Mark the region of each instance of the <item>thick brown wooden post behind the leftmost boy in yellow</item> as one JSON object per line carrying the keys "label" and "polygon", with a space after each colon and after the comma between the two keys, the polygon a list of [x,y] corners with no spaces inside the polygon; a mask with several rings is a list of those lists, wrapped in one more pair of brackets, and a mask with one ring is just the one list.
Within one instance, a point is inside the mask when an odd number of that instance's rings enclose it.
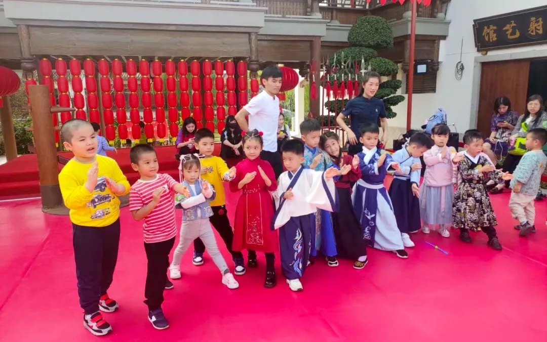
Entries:
{"label": "thick brown wooden post behind the leftmost boy in yellow", "polygon": [[51,120],[49,89],[46,85],[31,85],[28,86],[28,94],[31,99],[34,146],[38,157],[42,211],[46,211],[63,207],[63,198],[59,188],[59,167],[57,166],[57,150],[55,149],[54,127]]}

